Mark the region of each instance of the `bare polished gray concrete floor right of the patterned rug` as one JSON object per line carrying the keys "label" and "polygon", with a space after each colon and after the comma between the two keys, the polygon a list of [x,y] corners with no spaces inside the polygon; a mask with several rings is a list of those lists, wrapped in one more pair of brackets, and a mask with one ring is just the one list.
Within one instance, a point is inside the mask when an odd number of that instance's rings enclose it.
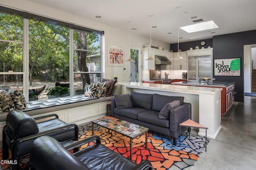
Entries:
{"label": "bare polished gray concrete floor right of the patterned rug", "polygon": [[244,97],[222,117],[222,130],[211,139],[192,170],[256,169],[256,97]]}

